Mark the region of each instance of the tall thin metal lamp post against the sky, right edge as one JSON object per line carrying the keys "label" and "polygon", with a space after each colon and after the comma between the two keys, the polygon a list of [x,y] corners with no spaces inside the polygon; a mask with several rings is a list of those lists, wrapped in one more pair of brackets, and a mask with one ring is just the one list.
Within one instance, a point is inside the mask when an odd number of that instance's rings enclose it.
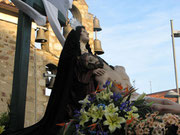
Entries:
{"label": "tall thin metal lamp post against the sky, right edge", "polygon": [[175,55],[175,46],[174,46],[174,37],[180,37],[180,31],[174,31],[173,30],[173,20],[170,20],[170,23],[171,23],[171,37],[172,37],[172,47],[173,47],[173,58],[174,58],[174,70],[175,70],[175,79],[176,79],[176,89],[177,89],[177,93],[178,93],[178,104],[180,104],[178,78],[177,78],[177,68],[176,68],[176,55]]}

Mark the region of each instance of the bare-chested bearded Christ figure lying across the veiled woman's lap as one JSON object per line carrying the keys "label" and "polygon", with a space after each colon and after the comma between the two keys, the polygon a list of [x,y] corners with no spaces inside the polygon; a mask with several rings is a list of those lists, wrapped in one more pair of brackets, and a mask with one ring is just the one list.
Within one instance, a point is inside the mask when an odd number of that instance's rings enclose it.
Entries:
{"label": "bare-chested bearded Christ figure lying across the veiled woman's lap", "polygon": [[[87,68],[89,70],[94,70],[94,72],[99,69],[103,69],[103,73],[95,74],[95,79],[98,82],[99,88],[103,89],[103,85],[107,80],[112,80],[117,84],[120,84],[123,88],[132,87],[130,83],[130,79],[125,71],[125,68],[122,66],[112,67],[108,65],[103,59],[98,56],[85,53],[80,57],[80,61],[82,62],[83,68]],[[112,88],[113,92],[120,92],[118,88]],[[131,100],[135,100],[138,98],[140,94],[134,92],[132,94]],[[180,114],[180,105],[168,100],[168,99],[160,99],[153,97],[145,97],[146,102],[154,102],[152,105],[152,109],[154,111],[159,111],[160,113],[175,113]]]}

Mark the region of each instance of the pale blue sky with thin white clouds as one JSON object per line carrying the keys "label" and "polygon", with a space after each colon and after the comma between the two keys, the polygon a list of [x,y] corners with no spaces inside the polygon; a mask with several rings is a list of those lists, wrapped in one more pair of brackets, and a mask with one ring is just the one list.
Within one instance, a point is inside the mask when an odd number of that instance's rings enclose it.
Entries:
{"label": "pale blue sky with thin white clouds", "polygon": [[[111,65],[126,69],[139,93],[176,88],[171,26],[180,30],[179,0],[86,0],[102,31],[97,33]],[[175,38],[180,85],[180,38]]]}

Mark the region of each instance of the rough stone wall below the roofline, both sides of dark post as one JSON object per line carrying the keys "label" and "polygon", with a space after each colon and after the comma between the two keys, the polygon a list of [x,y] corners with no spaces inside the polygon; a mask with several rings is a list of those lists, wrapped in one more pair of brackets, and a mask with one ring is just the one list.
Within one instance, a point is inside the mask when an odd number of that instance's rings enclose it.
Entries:
{"label": "rough stone wall below the roofline, both sides of dark post", "polygon": [[[8,26],[8,27],[7,27]],[[0,112],[7,111],[10,100],[14,70],[14,55],[17,25],[0,21]],[[40,49],[34,48],[35,31],[31,32],[31,48],[29,57],[28,87],[26,99],[25,125],[29,126],[43,116],[49,97],[45,96],[45,66],[49,63],[57,65],[58,58]],[[23,80],[19,80],[23,81]],[[36,85],[35,85],[36,84]],[[35,92],[37,97],[35,101]],[[36,104],[36,105],[35,105]],[[36,109],[35,109],[36,107]],[[37,110],[35,112],[35,110]]]}

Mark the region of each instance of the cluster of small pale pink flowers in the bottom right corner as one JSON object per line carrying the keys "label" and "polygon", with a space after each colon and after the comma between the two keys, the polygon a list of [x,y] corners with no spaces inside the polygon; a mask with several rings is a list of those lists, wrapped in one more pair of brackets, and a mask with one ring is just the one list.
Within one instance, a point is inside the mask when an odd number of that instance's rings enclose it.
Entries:
{"label": "cluster of small pale pink flowers in the bottom right corner", "polygon": [[159,112],[146,114],[145,119],[134,119],[128,125],[128,135],[180,135],[180,117]]}

